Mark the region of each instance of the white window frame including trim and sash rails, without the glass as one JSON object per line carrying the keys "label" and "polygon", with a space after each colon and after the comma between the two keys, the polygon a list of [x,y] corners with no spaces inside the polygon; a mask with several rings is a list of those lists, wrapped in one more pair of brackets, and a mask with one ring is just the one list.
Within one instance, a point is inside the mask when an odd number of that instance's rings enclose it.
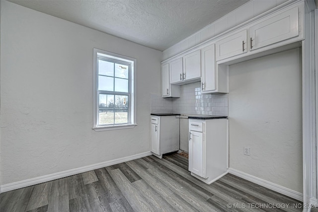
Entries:
{"label": "white window frame including trim and sash rails, without the glass", "polygon": [[[136,59],[115,53],[93,49],[93,127],[95,131],[129,129],[137,126],[136,123]],[[130,66],[128,71],[128,93],[116,91],[99,91],[98,90],[98,59],[105,59],[122,65]],[[113,76],[114,78],[115,75]],[[115,86],[115,85],[114,85]],[[108,124],[97,125],[99,118],[99,94],[107,95],[127,95],[128,94],[128,123],[126,124]],[[115,99],[114,99],[115,100]]]}

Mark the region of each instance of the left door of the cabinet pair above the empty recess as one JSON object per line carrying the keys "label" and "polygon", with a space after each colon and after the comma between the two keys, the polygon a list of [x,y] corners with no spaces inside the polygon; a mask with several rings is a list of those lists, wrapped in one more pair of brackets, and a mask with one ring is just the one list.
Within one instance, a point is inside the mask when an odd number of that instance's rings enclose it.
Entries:
{"label": "left door of the cabinet pair above the empty recess", "polygon": [[216,43],[217,61],[247,52],[247,30],[230,35]]}

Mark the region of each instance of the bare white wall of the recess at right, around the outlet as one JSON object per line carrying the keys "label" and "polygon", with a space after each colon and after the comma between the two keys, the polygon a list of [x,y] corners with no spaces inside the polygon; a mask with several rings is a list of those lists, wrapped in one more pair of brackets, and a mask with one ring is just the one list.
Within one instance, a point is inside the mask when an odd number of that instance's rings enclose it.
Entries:
{"label": "bare white wall of the recess at right, around the outlet", "polygon": [[230,168],[302,193],[300,57],[293,49],[230,66],[229,136]]}

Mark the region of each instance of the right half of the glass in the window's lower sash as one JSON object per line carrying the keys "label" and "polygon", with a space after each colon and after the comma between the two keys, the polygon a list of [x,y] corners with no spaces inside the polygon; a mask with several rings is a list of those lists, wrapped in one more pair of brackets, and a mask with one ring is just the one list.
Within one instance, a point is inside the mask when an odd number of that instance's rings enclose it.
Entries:
{"label": "right half of the glass in the window's lower sash", "polygon": [[128,123],[128,96],[115,96],[115,124]]}

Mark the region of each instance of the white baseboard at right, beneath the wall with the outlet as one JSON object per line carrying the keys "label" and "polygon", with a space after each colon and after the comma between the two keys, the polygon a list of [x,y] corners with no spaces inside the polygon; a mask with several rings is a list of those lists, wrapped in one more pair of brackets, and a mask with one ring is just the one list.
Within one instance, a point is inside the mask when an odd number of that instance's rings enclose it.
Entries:
{"label": "white baseboard at right, beneath the wall with the outlet", "polygon": [[257,185],[264,186],[265,188],[268,188],[270,190],[276,191],[280,194],[286,195],[286,196],[291,197],[295,200],[299,200],[299,201],[303,202],[303,194],[300,192],[293,191],[291,189],[285,188],[285,187],[277,185],[275,183],[268,182],[268,181],[260,179],[258,177],[254,177],[252,175],[246,174],[244,172],[238,171],[238,170],[233,169],[233,168],[229,168],[228,172],[230,174],[233,174],[235,176],[238,176],[238,177],[243,178],[245,180],[248,180],[250,182],[256,183]]}

